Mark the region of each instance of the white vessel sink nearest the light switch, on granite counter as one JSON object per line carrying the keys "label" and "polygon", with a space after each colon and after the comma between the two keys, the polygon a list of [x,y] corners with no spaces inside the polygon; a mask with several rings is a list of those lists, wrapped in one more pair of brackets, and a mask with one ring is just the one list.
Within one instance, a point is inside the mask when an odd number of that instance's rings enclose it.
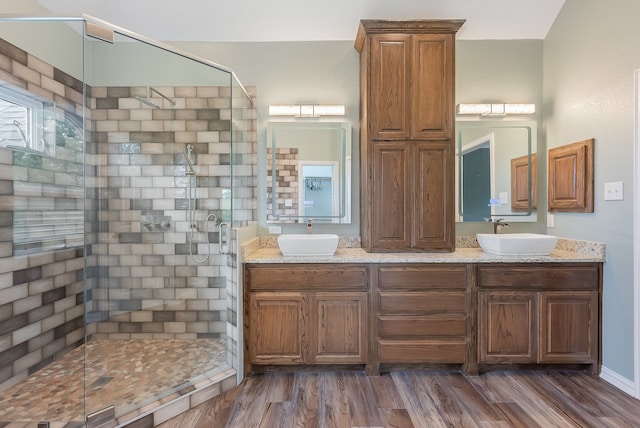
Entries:
{"label": "white vessel sink nearest the light switch, on granite counter", "polygon": [[548,256],[558,243],[557,236],[538,233],[478,233],[478,244],[499,256]]}

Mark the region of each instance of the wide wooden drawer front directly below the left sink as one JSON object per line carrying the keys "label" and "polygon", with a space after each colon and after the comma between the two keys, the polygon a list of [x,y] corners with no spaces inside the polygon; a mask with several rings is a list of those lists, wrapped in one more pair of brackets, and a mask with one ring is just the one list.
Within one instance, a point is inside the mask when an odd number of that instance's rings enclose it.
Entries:
{"label": "wide wooden drawer front directly below the left sink", "polygon": [[366,291],[369,288],[369,268],[366,265],[249,265],[245,275],[251,291]]}

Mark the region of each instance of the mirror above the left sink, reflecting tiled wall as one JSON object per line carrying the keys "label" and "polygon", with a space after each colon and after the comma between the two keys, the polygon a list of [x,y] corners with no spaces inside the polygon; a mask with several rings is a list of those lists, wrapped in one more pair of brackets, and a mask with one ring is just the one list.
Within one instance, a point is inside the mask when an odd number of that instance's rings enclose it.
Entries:
{"label": "mirror above the left sink, reflecting tiled wall", "polygon": [[351,124],[267,124],[267,222],[351,223]]}

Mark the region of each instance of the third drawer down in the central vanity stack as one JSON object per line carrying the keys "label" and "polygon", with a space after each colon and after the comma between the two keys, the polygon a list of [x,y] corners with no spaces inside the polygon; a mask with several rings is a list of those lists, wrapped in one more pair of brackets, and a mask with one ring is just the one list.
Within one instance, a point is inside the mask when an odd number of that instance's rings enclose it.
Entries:
{"label": "third drawer down in the central vanity stack", "polygon": [[381,315],[378,318],[380,338],[464,337],[466,334],[464,314]]}

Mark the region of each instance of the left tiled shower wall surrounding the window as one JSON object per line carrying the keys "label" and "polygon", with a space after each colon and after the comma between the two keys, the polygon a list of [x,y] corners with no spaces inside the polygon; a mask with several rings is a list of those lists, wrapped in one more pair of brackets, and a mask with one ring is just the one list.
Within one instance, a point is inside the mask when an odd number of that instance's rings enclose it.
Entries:
{"label": "left tiled shower wall surrounding the window", "polygon": [[[82,82],[2,39],[0,80],[81,123]],[[83,252],[73,246],[81,243],[14,255],[14,220],[26,207],[83,207],[82,147],[56,145],[54,157],[0,148],[0,391],[83,343]]]}

